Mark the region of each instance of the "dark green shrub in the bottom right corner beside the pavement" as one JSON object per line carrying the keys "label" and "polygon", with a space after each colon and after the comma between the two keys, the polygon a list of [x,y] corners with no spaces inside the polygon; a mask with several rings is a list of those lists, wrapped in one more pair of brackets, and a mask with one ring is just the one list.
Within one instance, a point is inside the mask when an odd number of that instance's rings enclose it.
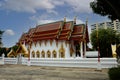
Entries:
{"label": "dark green shrub in the bottom right corner beside the pavement", "polygon": [[120,80],[120,67],[110,68],[108,75],[110,80]]}

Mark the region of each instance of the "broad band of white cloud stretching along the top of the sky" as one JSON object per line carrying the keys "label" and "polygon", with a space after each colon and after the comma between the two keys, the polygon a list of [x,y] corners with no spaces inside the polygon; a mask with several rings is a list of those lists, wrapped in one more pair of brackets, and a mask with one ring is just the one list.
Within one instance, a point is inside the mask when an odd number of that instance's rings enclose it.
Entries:
{"label": "broad band of white cloud stretching along the top of the sky", "polygon": [[93,0],[4,0],[1,7],[18,12],[36,13],[37,10],[46,10],[57,14],[59,6],[69,5],[73,11],[90,13],[89,3]]}

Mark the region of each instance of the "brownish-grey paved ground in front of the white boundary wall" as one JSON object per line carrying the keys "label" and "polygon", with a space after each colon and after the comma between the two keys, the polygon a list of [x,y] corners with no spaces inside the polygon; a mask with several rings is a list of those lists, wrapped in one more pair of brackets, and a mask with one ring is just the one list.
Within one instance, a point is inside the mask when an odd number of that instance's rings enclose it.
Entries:
{"label": "brownish-grey paved ground in front of the white boundary wall", "polygon": [[0,65],[0,80],[109,80],[108,69]]}

